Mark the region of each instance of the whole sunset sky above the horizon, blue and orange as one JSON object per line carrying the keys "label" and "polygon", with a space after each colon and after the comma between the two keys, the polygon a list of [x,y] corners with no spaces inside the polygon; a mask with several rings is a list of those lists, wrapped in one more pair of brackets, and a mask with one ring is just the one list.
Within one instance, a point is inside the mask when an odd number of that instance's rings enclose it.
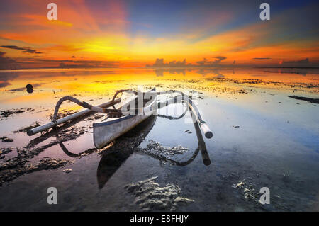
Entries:
{"label": "whole sunset sky above the horizon, blue and orange", "polygon": [[0,68],[318,67],[318,1],[262,2],[4,0]]}

